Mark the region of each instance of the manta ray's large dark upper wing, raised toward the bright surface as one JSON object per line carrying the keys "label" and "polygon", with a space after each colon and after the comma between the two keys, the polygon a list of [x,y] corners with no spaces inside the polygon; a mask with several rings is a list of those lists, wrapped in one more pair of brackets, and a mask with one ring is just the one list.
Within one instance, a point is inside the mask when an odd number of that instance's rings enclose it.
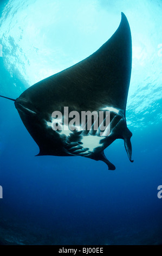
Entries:
{"label": "manta ray's large dark upper wing, raised toward the bright surface", "polygon": [[119,28],[98,51],[34,84],[21,97],[50,113],[72,106],[76,111],[113,107],[125,114],[131,65],[131,32],[122,13]]}

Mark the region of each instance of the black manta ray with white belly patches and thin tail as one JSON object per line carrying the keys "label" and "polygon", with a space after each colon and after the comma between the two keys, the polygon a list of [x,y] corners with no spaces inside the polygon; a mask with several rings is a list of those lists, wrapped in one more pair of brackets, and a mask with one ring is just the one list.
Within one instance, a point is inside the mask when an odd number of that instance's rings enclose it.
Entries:
{"label": "black manta ray with white belly patches and thin tail", "polygon": [[[132,157],[132,132],[126,124],[126,102],[131,79],[132,39],[124,13],[116,32],[99,50],[55,75],[25,90],[16,100],[20,114],[40,152],[37,156],[83,156],[105,162],[108,169],[115,166],[109,162],[104,150],[115,139],[124,139],[129,160]],[[4,96],[2,96],[4,97]],[[110,133],[100,136],[98,130],[51,129],[54,111],[63,113],[64,106],[70,111],[109,111]]]}

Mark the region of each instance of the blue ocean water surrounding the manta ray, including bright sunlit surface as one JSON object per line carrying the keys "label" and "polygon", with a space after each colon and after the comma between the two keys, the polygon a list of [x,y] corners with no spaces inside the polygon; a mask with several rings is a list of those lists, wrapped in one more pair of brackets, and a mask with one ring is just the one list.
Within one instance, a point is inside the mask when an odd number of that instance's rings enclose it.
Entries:
{"label": "blue ocean water surrounding the manta ray, including bright sunlit surface", "polygon": [[126,117],[134,162],[120,140],[105,150],[114,171],[84,157],[35,157],[14,103],[0,99],[0,244],[162,243],[160,0],[1,1],[0,94],[16,98],[89,56],[115,32],[121,11],[132,33]]}

